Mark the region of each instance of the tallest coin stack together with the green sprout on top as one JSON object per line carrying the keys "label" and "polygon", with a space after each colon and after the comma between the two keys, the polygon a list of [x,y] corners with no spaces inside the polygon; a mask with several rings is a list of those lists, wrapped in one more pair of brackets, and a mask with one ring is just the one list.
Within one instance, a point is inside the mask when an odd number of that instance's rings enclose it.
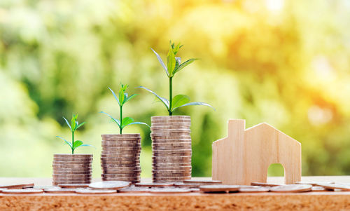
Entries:
{"label": "tallest coin stack together with the green sprout on top", "polygon": [[[169,79],[169,100],[160,97],[152,90],[144,88],[155,95],[165,105],[169,116],[151,117],[152,138],[152,180],[153,182],[179,182],[190,179],[192,175],[192,139],[190,135],[190,116],[173,116],[174,111],[190,105],[204,105],[211,107],[205,102],[190,102],[187,95],[173,97],[173,78],[183,68],[197,59],[189,59],[181,63],[181,57],[177,57],[181,44],[175,45],[170,41],[167,54],[167,65],[158,53],[153,53],[165,70]],[[213,108],[213,107],[211,107]],[[214,109],[214,108],[213,108]]]}

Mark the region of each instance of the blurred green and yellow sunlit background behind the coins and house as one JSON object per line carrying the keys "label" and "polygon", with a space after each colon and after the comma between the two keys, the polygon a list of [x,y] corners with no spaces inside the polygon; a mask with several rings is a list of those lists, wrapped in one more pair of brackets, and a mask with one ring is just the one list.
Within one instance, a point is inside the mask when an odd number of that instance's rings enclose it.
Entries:
{"label": "blurred green and yellow sunlit background behind the coins and house", "polygon": [[[146,86],[167,97],[169,40],[180,56],[201,60],[174,78],[174,94],[212,104],[186,107],[192,117],[193,176],[211,176],[211,143],[229,118],[267,122],[302,143],[302,175],[350,174],[350,1],[347,0],[1,0],[0,176],[50,177],[52,154],[69,153],[62,116],[87,121],[78,139],[97,149],[118,127],[108,86],[140,95],[125,116],[151,123],[167,115]],[[151,177],[151,138],[140,132],[142,176]],[[282,172],[281,172],[282,171]],[[274,165],[269,175],[283,175]]]}

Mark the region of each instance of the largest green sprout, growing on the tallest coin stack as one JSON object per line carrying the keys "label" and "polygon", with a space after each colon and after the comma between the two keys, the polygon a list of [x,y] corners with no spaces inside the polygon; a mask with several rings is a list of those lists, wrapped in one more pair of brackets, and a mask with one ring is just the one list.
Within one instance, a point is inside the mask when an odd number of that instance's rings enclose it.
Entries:
{"label": "largest green sprout, growing on the tallest coin stack", "polygon": [[157,56],[158,61],[162,65],[163,69],[165,69],[165,73],[167,73],[167,76],[169,78],[169,100],[167,100],[167,98],[165,97],[160,97],[155,92],[153,92],[152,90],[149,90],[148,88],[145,88],[144,86],[139,86],[139,88],[144,88],[148,92],[155,95],[155,97],[157,97],[165,105],[165,107],[167,107],[167,110],[169,111],[169,116],[172,116],[173,112],[176,109],[179,109],[180,107],[190,106],[190,105],[204,105],[204,106],[213,108],[210,104],[207,104],[205,102],[190,102],[190,97],[188,97],[187,95],[176,95],[175,97],[172,97],[173,96],[172,79],[175,76],[175,74],[178,73],[184,67],[186,67],[188,64],[191,64],[192,62],[197,60],[197,59],[189,59],[186,62],[183,62],[181,64],[181,57],[176,57],[176,53],[179,52],[179,49],[181,47],[182,45],[180,45],[180,43],[175,46],[175,44],[172,43],[172,41],[170,41],[169,52],[167,55],[167,66],[165,66],[160,55],[158,55],[158,53],[151,48],[153,50],[153,53],[155,53],[155,55]]}

